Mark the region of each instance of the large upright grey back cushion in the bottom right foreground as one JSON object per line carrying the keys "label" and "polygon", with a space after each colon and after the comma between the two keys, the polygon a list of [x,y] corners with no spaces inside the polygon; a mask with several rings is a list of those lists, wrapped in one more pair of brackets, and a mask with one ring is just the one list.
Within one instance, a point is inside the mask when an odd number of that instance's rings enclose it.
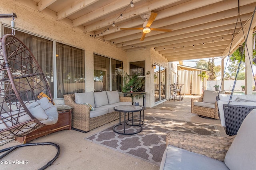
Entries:
{"label": "large upright grey back cushion in the bottom right foreground", "polygon": [[225,164],[232,170],[252,170],[256,167],[256,109],[244,119],[225,156]]}

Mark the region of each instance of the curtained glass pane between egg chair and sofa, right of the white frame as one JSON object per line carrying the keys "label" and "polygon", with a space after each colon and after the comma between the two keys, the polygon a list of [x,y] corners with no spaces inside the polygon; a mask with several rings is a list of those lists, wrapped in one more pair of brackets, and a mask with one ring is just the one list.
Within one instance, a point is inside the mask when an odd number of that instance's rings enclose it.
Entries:
{"label": "curtained glass pane between egg chair and sofa, right of the white frame", "polygon": [[85,92],[84,50],[56,42],[58,98]]}

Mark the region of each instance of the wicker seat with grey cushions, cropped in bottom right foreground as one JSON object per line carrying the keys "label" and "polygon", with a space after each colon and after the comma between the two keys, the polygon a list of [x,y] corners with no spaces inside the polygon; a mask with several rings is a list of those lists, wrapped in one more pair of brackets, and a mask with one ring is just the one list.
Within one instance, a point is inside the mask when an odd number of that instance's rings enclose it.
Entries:
{"label": "wicker seat with grey cushions, cropped in bottom right foreground", "polygon": [[256,109],[237,135],[213,137],[170,132],[160,170],[252,170],[256,167]]}

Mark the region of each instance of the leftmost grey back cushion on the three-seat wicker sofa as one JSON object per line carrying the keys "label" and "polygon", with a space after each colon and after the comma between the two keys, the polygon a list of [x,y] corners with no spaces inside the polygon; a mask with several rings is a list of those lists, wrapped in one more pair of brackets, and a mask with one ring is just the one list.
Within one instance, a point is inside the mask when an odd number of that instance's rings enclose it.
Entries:
{"label": "leftmost grey back cushion on the three-seat wicker sofa", "polygon": [[95,107],[94,104],[94,92],[76,93],[75,92],[75,102],[76,104],[88,103]]}

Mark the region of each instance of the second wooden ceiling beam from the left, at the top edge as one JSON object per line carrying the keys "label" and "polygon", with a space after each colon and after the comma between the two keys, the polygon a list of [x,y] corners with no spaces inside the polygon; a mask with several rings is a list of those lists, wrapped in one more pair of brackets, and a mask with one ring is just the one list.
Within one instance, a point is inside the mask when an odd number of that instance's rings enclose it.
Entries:
{"label": "second wooden ceiling beam from the left, at the top edge", "polygon": [[78,12],[79,10],[82,10],[83,8],[86,8],[89,5],[94,4],[95,2],[98,2],[98,1],[99,0],[82,0],[80,2],[70,4],[66,8],[57,12],[57,19],[62,20],[63,18],[66,18],[74,14],[75,12]]}

